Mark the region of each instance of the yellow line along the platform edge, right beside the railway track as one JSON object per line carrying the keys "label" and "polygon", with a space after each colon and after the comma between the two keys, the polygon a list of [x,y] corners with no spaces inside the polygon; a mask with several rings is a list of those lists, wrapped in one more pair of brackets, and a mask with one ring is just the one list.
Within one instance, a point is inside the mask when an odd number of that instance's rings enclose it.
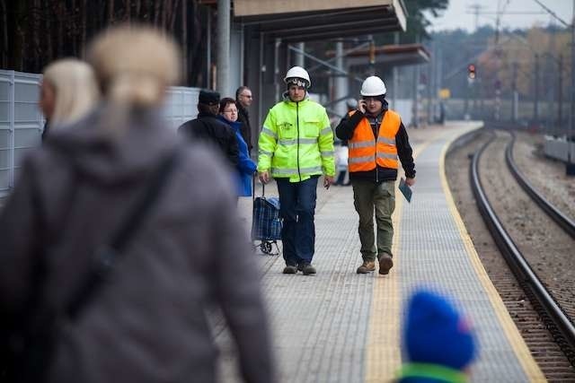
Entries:
{"label": "yellow line along the platform edge, right beside the railway track", "polygon": [[509,311],[505,307],[503,300],[501,300],[500,294],[495,289],[495,286],[493,286],[493,283],[491,283],[491,279],[489,278],[489,275],[485,271],[485,268],[482,265],[482,261],[481,259],[479,259],[477,251],[473,246],[473,241],[469,233],[467,232],[467,229],[465,229],[464,222],[461,218],[461,215],[459,215],[459,211],[457,210],[453,195],[451,194],[451,190],[449,189],[449,185],[447,184],[447,176],[445,171],[445,158],[447,148],[455,140],[456,137],[452,138],[445,144],[439,160],[440,161],[439,174],[441,177],[441,185],[447,198],[447,206],[449,208],[449,211],[451,212],[451,215],[453,216],[454,221],[456,222],[457,229],[459,230],[459,235],[461,239],[463,239],[464,241],[464,248],[469,256],[469,259],[471,260],[475,274],[477,274],[479,281],[482,283],[483,289],[485,290],[487,296],[489,297],[489,300],[491,301],[491,306],[493,307],[495,314],[497,315],[497,318],[499,319],[499,322],[503,327],[503,331],[505,332],[505,335],[508,338],[509,344],[511,344],[511,347],[513,348],[515,354],[517,355],[517,359],[519,363],[521,363],[521,366],[523,367],[523,370],[525,371],[527,378],[531,379],[531,381],[533,382],[546,381],[543,372],[539,369],[539,366],[535,362],[535,359],[529,352],[529,349],[527,348],[527,345],[523,340],[523,337],[519,334],[517,326],[515,326],[515,323],[513,323],[513,319],[511,319],[511,317],[509,316]]}

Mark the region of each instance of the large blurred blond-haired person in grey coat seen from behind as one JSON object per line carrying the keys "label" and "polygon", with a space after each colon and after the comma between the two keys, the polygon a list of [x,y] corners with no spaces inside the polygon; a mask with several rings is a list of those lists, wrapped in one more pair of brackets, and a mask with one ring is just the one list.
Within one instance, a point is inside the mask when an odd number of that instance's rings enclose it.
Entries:
{"label": "large blurred blond-haired person in grey coat seen from behind", "polygon": [[203,147],[180,147],[161,118],[180,73],[175,45],[155,30],[111,29],[88,61],[104,102],[23,162],[0,214],[0,335],[25,356],[13,381],[214,382],[206,311],[217,307],[243,379],[273,382],[230,177]]}

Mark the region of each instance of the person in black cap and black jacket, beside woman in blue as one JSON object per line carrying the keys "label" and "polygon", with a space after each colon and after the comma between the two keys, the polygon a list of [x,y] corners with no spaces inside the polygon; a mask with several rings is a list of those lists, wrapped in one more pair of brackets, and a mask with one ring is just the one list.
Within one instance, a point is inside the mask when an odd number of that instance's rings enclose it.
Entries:
{"label": "person in black cap and black jacket, beside woman in blue", "polygon": [[198,111],[197,118],[178,127],[178,134],[188,137],[191,141],[200,141],[219,148],[220,154],[227,159],[230,168],[235,170],[239,161],[237,140],[234,130],[217,118],[219,93],[205,89],[199,91]]}

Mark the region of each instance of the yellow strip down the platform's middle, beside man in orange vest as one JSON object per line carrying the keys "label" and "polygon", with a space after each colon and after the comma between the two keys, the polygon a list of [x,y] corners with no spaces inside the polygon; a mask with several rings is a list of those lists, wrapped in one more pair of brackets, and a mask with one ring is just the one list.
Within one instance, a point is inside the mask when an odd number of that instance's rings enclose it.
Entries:
{"label": "yellow strip down the platform's middle, beside man in orange vest", "polygon": [[[414,159],[431,142],[418,145],[414,149]],[[367,327],[367,357],[366,382],[389,382],[402,364],[401,353],[401,307],[402,294],[399,291],[399,281],[396,267],[401,267],[401,251],[399,248],[400,222],[403,211],[403,195],[395,191],[395,210],[392,216],[394,222],[394,268],[385,275],[376,276],[374,292],[371,301],[369,326]],[[377,273],[377,272],[376,272]]]}

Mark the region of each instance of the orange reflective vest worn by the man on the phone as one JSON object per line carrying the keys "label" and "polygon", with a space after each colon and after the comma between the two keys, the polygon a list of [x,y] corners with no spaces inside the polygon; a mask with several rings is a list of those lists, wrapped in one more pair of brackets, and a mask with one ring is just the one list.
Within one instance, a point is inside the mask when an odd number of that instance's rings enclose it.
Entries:
{"label": "orange reflective vest worn by the man on the phone", "polygon": [[[350,115],[354,112],[350,112]],[[395,135],[402,119],[393,110],[387,110],[379,126],[377,139],[367,118],[362,118],[348,142],[349,171],[369,171],[380,167],[397,169]]]}

